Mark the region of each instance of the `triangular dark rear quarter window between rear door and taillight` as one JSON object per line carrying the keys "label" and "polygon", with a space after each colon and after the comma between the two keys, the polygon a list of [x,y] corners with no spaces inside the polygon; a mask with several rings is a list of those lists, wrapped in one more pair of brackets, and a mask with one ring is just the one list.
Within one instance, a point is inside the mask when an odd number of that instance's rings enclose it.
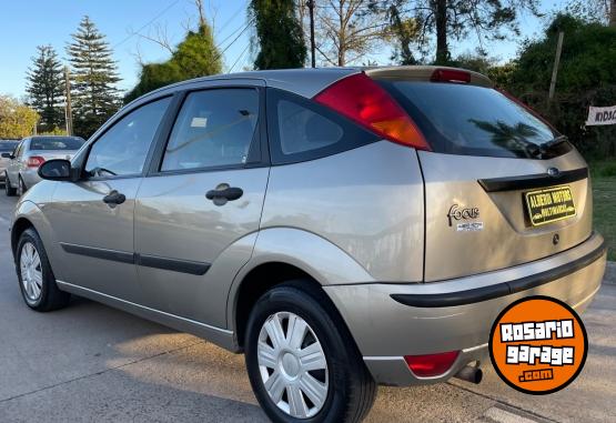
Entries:
{"label": "triangular dark rear quarter window between rear door and taillight", "polygon": [[327,108],[282,90],[267,90],[267,112],[273,164],[314,160],[378,140]]}

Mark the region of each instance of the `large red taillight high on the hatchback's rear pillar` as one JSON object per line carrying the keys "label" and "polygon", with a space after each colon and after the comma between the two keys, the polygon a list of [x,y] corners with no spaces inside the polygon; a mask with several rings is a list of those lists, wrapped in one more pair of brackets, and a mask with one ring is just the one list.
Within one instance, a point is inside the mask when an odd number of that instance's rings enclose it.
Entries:
{"label": "large red taillight high on the hatchback's rear pillar", "polygon": [[390,141],[430,150],[408,114],[365,73],[357,73],[334,83],[319,93],[314,100]]}

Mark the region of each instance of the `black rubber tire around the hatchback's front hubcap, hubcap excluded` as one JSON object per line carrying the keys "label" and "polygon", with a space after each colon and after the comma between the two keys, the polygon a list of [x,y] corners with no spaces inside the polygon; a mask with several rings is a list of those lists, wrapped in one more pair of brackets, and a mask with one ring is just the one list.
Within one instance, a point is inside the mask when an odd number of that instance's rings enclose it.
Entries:
{"label": "black rubber tire around the hatchback's front hubcap, hubcap excluded", "polygon": [[[30,299],[29,294],[26,292],[21,275],[22,250],[27,245],[33,245],[40,258],[39,268],[42,273],[42,283],[40,286],[40,295],[38,295],[34,300]],[[16,270],[21,296],[30,309],[39,312],[48,312],[62,309],[69,304],[71,295],[58,289],[43,243],[33,228],[29,228],[23,231],[19,238],[16,251]]]}

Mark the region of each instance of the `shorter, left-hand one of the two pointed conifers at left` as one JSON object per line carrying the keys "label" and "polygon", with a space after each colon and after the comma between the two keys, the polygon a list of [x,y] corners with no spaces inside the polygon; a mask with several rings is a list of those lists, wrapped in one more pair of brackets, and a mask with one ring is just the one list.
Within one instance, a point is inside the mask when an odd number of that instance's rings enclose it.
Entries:
{"label": "shorter, left-hand one of the two pointed conifers at left", "polygon": [[38,56],[28,69],[26,91],[30,105],[41,117],[41,132],[53,131],[64,122],[62,64],[51,46],[39,46],[37,50]]}

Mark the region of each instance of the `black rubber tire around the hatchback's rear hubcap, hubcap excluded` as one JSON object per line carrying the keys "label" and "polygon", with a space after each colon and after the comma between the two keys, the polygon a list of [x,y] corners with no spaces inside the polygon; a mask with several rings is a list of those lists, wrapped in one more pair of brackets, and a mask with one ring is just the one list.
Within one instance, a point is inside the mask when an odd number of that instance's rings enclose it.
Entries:
{"label": "black rubber tire around the hatchback's rear hubcap, hubcap excluded", "polygon": [[[261,328],[271,315],[279,312],[302,318],[314,331],[326,357],[330,381],[326,400],[322,409],[309,419],[296,419],[279,409],[270,399],[261,376],[256,348]],[[330,299],[312,288],[310,282],[287,282],[263,294],[251,312],[244,345],[252,389],[273,422],[361,422],[374,403],[376,383],[344,321]]]}

